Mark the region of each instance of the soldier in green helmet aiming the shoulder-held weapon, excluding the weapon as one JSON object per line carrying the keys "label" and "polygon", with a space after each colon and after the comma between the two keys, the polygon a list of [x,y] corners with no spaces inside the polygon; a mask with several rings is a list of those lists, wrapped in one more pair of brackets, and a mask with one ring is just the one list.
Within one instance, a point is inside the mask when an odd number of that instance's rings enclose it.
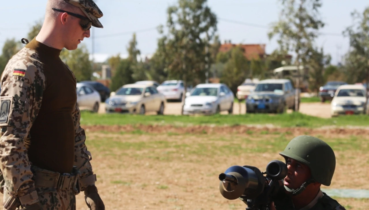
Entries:
{"label": "soldier in green helmet aiming the shoulder-held weapon, excluding the weapon", "polygon": [[345,210],[320,190],[331,185],[336,159],[332,148],[312,136],[292,139],[282,155],[288,173],[283,180],[285,192],[272,203],[272,210]]}

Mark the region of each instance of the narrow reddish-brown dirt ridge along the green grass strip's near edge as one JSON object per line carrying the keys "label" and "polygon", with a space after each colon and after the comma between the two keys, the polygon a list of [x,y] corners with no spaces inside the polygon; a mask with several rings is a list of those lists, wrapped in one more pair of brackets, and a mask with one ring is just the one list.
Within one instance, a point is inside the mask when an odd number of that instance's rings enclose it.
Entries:
{"label": "narrow reddish-brown dirt ridge along the green grass strip's near edge", "polygon": [[323,136],[363,136],[369,135],[368,129],[349,129],[349,128],[330,128],[330,129],[312,129],[306,127],[292,128],[273,128],[256,126],[172,126],[172,125],[94,125],[83,126],[87,132],[106,131],[106,132],[143,132],[143,133],[176,133],[176,134],[243,134],[243,133],[262,133],[279,134],[286,133],[291,135],[314,134]]}

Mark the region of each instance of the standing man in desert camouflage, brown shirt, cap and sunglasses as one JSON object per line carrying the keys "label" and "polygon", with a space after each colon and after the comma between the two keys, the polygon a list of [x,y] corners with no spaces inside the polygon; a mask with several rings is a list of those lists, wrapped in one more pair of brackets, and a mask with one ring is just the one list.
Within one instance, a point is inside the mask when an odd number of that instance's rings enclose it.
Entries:
{"label": "standing man in desert camouflage, brown shirt, cap and sunglasses", "polygon": [[[4,209],[74,210],[84,191],[104,210],[76,105],[76,78],[59,54],[103,28],[92,0],[48,0],[39,34],[1,75],[0,169]],[[0,176],[1,178],[1,176]]]}

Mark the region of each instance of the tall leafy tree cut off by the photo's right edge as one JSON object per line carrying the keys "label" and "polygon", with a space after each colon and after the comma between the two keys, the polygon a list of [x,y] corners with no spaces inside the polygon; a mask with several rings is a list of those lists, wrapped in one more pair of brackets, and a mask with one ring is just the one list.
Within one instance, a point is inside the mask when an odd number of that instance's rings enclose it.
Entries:
{"label": "tall leafy tree cut off by the photo's right edge", "polygon": [[351,16],[354,24],[343,32],[351,46],[345,56],[347,77],[353,83],[365,80],[369,87],[369,7],[362,14],[355,10]]}

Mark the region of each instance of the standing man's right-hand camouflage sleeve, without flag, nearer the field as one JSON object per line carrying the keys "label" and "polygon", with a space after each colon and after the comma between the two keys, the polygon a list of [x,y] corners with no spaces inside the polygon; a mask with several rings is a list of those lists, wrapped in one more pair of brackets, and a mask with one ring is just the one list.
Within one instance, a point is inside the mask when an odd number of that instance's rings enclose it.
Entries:
{"label": "standing man's right-hand camouflage sleeve, without flag, nearer the field", "polygon": [[85,190],[88,185],[94,185],[96,181],[96,175],[92,171],[92,165],[90,160],[92,160],[91,153],[87,150],[85,144],[86,134],[85,129],[80,126],[81,113],[76,104],[75,110],[73,112],[73,119],[75,125],[75,146],[74,146],[74,164],[80,171],[80,184],[81,190]]}

